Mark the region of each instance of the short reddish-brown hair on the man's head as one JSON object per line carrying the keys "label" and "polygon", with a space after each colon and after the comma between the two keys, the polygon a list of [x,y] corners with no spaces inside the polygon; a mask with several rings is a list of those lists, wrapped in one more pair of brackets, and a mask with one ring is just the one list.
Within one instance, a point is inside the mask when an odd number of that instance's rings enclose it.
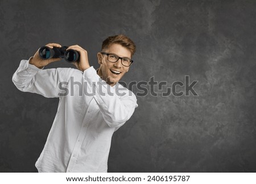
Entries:
{"label": "short reddish-brown hair on the man's head", "polygon": [[134,42],[125,35],[109,36],[106,40],[102,42],[101,50],[108,49],[109,46],[114,43],[122,45],[131,52],[131,55],[134,55],[136,46]]}

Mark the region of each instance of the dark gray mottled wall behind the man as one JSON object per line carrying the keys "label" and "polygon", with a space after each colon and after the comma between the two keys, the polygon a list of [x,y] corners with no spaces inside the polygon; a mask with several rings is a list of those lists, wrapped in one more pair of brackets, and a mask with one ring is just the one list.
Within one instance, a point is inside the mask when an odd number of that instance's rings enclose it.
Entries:
{"label": "dark gray mottled wall behind the man", "polygon": [[109,172],[256,172],[255,17],[253,0],[0,0],[0,172],[36,172],[57,110],[58,99],[15,88],[20,60],[50,42],[79,44],[97,68],[115,34],[137,44],[124,81],[171,87],[190,76],[199,97],[138,97],[114,133]]}

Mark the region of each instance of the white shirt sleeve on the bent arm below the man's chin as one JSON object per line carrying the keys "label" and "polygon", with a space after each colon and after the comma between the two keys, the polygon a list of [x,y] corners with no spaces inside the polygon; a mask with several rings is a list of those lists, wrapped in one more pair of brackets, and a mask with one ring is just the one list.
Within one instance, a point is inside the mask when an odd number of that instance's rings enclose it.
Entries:
{"label": "white shirt sleeve on the bent arm below the man's chin", "polygon": [[85,90],[91,90],[90,93],[94,94],[93,97],[105,122],[109,127],[121,127],[138,107],[136,96],[125,87],[118,88],[108,85],[101,80],[93,66],[86,69],[83,75],[85,81],[88,82]]}

